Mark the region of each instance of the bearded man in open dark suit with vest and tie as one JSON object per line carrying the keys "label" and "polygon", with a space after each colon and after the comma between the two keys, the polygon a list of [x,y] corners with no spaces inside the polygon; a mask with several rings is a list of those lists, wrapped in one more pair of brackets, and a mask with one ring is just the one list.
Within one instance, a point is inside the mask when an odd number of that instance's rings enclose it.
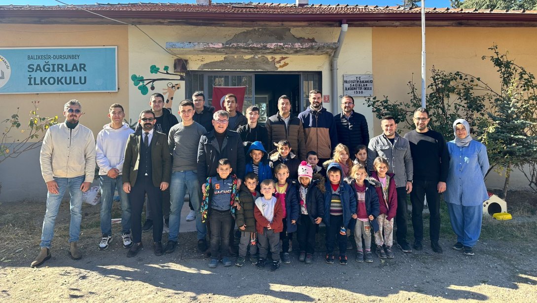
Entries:
{"label": "bearded man in open dark suit with vest and tie", "polygon": [[123,190],[128,193],[131,211],[132,240],[127,257],[134,257],[142,245],[142,208],[145,195],[156,215],[153,222],[155,255],[162,255],[162,191],[168,189],[171,174],[171,157],[168,136],[155,131],[155,113],[140,113],[141,133],[129,135],[123,163]]}

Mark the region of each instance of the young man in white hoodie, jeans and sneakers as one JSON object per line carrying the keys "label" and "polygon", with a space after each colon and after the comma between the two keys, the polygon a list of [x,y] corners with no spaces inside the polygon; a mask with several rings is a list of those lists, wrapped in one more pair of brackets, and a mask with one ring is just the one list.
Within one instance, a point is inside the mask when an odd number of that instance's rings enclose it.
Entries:
{"label": "young man in white hoodie, jeans and sneakers", "polygon": [[108,110],[110,123],[103,126],[97,135],[97,165],[99,166],[99,183],[101,190],[101,234],[99,249],[105,250],[112,242],[112,202],[117,189],[121,200],[121,238],[123,247],[131,247],[130,239],[130,204],[127,193],[123,190],[123,160],[125,146],[129,135],[134,133],[130,126],[123,122],[125,111],[123,106],[114,103]]}

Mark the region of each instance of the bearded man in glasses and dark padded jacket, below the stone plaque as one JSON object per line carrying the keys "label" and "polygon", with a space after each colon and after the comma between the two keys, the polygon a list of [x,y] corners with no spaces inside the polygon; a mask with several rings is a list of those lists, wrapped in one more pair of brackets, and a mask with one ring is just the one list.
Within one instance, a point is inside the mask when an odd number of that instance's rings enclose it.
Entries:
{"label": "bearded man in glasses and dark padded jacket, below the stone plaque", "polygon": [[342,112],[334,117],[338,142],[349,148],[349,156],[354,160],[354,149],[369,143],[367,120],[364,115],[354,111],[354,98],[351,96],[341,98],[341,109]]}

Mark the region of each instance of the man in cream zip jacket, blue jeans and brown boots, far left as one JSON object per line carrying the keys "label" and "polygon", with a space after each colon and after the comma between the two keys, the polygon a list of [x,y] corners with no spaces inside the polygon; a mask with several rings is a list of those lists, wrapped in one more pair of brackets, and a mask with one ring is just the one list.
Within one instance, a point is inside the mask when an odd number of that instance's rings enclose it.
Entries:
{"label": "man in cream zip jacket, blue jeans and brown boots, far left", "polygon": [[82,258],[76,246],[82,221],[82,193],[88,191],[95,175],[95,139],[88,127],[79,124],[78,119],[82,114],[80,102],[70,100],[63,106],[66,121],[51,126],[43,138],[39,162],[41,174],[47,183],[47,210],[43,219],[41,250],[32,267],[50,259],[54,222],[67,190],[71,196],[69,255],[75,260]]}

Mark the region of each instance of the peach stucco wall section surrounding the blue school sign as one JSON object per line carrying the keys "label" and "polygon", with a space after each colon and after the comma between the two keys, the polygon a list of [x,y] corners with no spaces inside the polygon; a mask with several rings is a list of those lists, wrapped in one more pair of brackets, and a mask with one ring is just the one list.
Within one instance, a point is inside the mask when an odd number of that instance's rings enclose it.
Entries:
{"label": "peach stucco wall section surrounding the blue school sign", "polygon": [[118,46],[119,87],[118,92],[0,95],[0,120],[9,118],[17,111],[17,107],[20,107],[20,117],[26,120],[26,114],[33,109],[30,104],[32,100],[39,100],[39,113],[42,116],[62,116],[63,105],[70,99],[78,99],[84,111],[81,123],[90,127],[93,134],[97,135],[106,121],[110,122],[106,114],[112,103],[128,107],[126,26],[0,24],[0,37],[1,47]]}

